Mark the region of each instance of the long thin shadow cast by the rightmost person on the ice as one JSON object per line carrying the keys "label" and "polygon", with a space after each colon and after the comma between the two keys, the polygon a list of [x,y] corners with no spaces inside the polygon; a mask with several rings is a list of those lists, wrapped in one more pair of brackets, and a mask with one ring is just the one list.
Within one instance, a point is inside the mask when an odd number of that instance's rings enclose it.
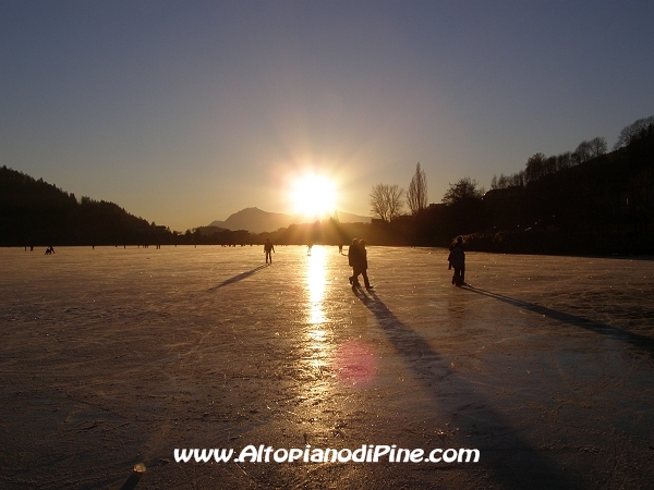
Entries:
{"label": "long thin shadow cast by the rightmost person on the ice", "polygon": [[516,306],[518,308],[523,308],[529,311],[533,311],[537,315],[543,315],[547,318],[552,318],[557,321],[561,321],[565,323],[572,324],[574,327],[579,327],[582,329],[590,330],[595,333],[601,333],[603,335],[610,336],[611,339],[620,340],[627,342],[637,348],[646,352],[650,354],[650,357],[654,358],[654,339],[640,335],[638,333],[631,333],[627,330],[618,329],[616,327],[610,327],[604,323],[600,323],[594,320],[590,320],[584,317],[578,317],[576,315],[566,314],[562,311],[558,311],[556,309],[547,308],[545,306],[536,305],[534,303],[523,302],[522,299],[517,299],[513,297],[505,296],[502,294],[492,293],[491,291],[480,290],[479,287],[468,286],[464,290],[470,291],[472,293],[481,294],[484,296],[492,297],[494,299],[508,303],[509,305]]}

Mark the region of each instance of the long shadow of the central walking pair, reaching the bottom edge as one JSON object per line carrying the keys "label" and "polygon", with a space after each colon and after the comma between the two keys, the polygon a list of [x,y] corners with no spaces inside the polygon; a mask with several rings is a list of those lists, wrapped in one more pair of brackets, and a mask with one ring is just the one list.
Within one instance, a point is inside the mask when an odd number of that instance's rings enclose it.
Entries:
{"label": "long shadow of the central walking pair, reaching the bottom edge", "polygon": [[[382,329],[391,341],[397,352],[413,369],[416,378],[423,382],[425,390],[439,401],[446,393],[440,390],[440,380],[452,380],[450,387],[456,387],[457,392],[475,400],[475,405],[483,405],[483,413],[475,413],[475,419],[470,416],[458,417],[457,424],[462,431],[469,434],[485,433],[484,440],[499,438],[504,442],[493,443],[491,446],[480,449],[481,462],[492,471],[489,475],[501,488],[578,488],[579,481],[571,481],[559,469],[555,461],[532,446],[520,436],[520,430],[491,407],[491,402],[484,400],[469,381],[457,376],[432,346],[413,329],[400,321],[388,309],[382,299],[371,292],[371,296],[354,290],[356,297],[371,310]],[[435,376],[435,371],[445,376]],[[450,388],[451,390],[451,388]],[[506,436],[509,439],[506,439]]]}

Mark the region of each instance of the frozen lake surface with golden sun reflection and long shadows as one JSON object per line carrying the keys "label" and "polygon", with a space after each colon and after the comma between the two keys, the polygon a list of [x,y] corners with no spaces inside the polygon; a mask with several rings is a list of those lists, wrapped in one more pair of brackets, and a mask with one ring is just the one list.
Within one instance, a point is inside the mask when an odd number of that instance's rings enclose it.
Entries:
{"label": "frozen lake surface with golden sun reflection and long shadows", "polygon": [[[347,249],[347,247],[346,247]],[[0,486],[644,488],[654,261],[370,247],[0,249]],[[174,449],[474,448],[472,464]],[[132,467],[144,463],[138,481]]]}

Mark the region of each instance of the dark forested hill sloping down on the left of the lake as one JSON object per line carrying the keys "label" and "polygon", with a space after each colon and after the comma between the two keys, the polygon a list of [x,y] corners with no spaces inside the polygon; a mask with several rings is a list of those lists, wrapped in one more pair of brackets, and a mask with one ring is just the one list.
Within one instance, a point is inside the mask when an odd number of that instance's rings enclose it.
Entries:
{"label": "dark forested hill sloping down on the left of the lake", "polygon": [[43,179],[0,169],[0,246],[157,244],[171,236],[113,203],[77,200]]}

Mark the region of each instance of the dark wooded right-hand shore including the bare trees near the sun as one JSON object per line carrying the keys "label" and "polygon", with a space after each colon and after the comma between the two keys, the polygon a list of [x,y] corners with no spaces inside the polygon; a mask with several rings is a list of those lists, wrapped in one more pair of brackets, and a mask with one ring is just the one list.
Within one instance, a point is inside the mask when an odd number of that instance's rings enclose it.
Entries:
{"label": "dark wooded right-hand shore including the bare trees near the sun", "polygon": [[523,170],[494,175],[488,192],[470,176],[438,204],[426,205],[426,191],[420,163],[407,193],[374,185],[375,224],[403,245],[446,246],[463,234],[469,248],[493,252],[653,253],[654,117],[626,126],[610,152],[595,137],[574,151],[535,154]]}

